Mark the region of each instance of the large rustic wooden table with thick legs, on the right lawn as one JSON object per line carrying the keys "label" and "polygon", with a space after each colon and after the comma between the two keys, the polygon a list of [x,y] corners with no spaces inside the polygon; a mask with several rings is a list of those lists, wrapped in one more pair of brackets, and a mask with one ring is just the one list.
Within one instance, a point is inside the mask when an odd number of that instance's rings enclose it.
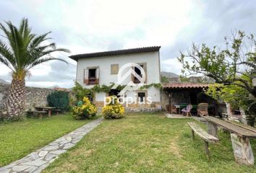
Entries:
{"label": "large rustic wooden table with thick legs, on the right lawn", "polygon": [[216,117],[205,116],[208,125],[208,133],[218,138],[218,126],[228,130],[231,134],[231,142],[234,157],[239,164],[254,165],[254,156],[249,138],[256,138],[255,128],[245,125],[236,125]]}

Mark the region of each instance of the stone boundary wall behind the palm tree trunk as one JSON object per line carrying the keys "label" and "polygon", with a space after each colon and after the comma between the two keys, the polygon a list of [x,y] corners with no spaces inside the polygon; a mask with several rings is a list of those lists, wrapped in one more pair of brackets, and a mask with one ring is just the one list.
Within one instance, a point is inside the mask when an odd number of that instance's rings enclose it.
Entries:
{"label": "stone boundary wall behind the palm tree trunk", "polygon": [[[4,99],[7,98],[7,92],[9,84],[0,84],[0,105],[4,103]],[[47,96],[54,89],[26,87],[25,95],[25,110],[33,110],[35,106],[46,106]]]}

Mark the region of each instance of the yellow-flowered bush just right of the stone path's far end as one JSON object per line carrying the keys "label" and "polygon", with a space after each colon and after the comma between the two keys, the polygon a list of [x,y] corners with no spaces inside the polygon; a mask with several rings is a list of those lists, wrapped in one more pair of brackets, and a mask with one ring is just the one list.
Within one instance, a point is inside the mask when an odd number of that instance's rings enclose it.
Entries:
{"label": "yellow-flowered bush just right of the stone path's far end", "polygon": [[124,107],[117,102],[116,97],[108,97],[108,101],[111,101],[108,105],[103,107],[102,113],[106,119],[118,119],[124,116]]}

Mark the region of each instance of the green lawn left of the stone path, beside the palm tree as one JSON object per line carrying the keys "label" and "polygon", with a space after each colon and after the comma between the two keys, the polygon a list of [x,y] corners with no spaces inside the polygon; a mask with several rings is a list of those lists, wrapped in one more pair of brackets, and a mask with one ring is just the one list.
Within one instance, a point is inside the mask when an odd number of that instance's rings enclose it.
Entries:
{"label": "green lawn left of the stone path, beside the palm tree", "polygon": [[56,138],[85,125],[90,120],[74,120],[70,114],[27,118],[15,123],[0,123],[0,167],[22,158]]}

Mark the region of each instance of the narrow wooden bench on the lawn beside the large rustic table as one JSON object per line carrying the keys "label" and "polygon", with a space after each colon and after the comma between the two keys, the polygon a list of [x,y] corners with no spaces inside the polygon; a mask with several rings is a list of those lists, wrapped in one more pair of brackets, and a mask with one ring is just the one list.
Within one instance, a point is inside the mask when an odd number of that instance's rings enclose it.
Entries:
{"label": "narrow wooden bench on the lawn beside the large rustic table", "polygon": [[218,138],[208,134],[205,130],[200,128],[200,126],[197,125],[196,123],[189,122],[188,124],[189,124],[190,128],[192,128],[193,140],[195,139],[195,133],[197,133],[197,135],[200,136],[200,138],[202,138],[203,141],[205,141],[205,153],[206,153],[208,159],[210,159],[209,143],[218,142],[219,141]]}

